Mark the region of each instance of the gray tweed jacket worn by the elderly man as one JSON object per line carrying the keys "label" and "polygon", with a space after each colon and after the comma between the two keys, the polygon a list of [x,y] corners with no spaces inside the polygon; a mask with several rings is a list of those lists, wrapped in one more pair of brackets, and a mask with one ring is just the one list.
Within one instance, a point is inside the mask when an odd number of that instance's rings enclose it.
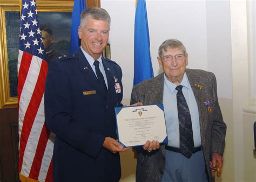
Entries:
{"label": "gray tweed jacket worn by the elderly man", "polygon": [[[186,74],[196,97],[201,142],[204,152],[208,180],[211,179],[210,159],[212,152],[223,155],[225,147],[226,124],[220,111],[217,83],[213,73],[199,69],[186,69]],[[142,102],[143,104],[163,103],[164,73],[145,80],[134,86],[131,95],[131,104]],[[208,111],[205,101],[210,101],[212,111]],[[142,147],[136,148],[137,153],[137,182],[160,181],[165,167],[165,148],[160,146],[159,150],[147,152]]]}

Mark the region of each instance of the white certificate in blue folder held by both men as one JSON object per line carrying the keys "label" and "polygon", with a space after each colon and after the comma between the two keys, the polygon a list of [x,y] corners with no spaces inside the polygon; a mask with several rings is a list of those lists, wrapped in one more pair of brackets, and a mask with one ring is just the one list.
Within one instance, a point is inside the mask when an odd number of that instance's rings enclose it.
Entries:
{"label": "white certificate in blue folder held by both men", "polygon": [[167,143],[163,104],[116,107],[118,141],[124,147],[144,145],[157,140]]}

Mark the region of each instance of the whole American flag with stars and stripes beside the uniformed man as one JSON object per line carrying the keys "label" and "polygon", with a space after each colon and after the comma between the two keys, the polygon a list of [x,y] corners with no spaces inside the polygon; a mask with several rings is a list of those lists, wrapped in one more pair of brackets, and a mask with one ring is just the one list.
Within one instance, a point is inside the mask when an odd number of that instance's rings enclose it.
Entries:
{"label": "whole American flag with stars and stripes beside the uniformed man", "polygon": [[36,0],[22,0],[18,55],[19,172],[52,181],[54,136],[46,128],[44,86],[48,65]]}

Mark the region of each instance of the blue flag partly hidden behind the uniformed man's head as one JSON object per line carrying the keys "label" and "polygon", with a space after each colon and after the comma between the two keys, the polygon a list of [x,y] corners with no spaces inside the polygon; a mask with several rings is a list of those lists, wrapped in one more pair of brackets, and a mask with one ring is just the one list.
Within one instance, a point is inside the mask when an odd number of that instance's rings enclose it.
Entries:
{"label": "blue flag partly hidden behind the uniformed man's head", "polygon": [[78,38],[78,27],[80,25],[80,14],[86,9],[84,0],[75,0],[72,12],[72,25],[70,36],[70,53],[75,53],[80,46],[80,39]]}

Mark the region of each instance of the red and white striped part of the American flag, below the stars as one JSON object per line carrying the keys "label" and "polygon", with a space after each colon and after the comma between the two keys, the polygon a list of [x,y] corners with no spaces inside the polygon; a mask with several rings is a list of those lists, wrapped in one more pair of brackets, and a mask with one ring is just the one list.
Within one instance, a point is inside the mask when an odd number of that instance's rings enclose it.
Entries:
{"label": "red and white striped part of the American flag, below the stars", "polygon": [[54,135],[45,125],[45,60],[19,50],[19,172],[39,181],[52,181]]}

